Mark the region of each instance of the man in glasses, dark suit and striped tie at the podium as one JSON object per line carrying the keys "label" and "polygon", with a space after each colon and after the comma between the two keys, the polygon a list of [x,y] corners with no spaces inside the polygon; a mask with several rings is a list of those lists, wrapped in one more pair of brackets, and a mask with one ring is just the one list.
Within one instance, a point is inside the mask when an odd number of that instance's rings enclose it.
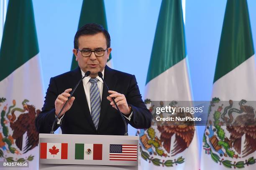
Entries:
{"label": "man in glasses, dark suit and striped tie at the podium", "polygon": [[[52,77],[42,112],[36,117],[39,133],[50,133],[51,125],[70,96],[72,87],[84,76],[70,98],[54,129],[64,134],[124,135],[125,126],[112,97],[134,128],[149,128],[151,113],[141,100],[134,75],[113,70],[106,65],[110,52],[110,35],[101,25],[87,24],[74,37],[73,53],[79,67]],[[110,91],[98,76],[102,72]]]}

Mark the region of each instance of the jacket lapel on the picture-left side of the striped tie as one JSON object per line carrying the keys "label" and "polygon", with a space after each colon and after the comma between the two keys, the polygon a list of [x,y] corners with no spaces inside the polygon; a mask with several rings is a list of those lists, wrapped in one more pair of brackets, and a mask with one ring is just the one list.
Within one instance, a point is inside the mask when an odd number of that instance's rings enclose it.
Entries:
{"label": "jacket lapel on the picture-left side of the striped tie", "polygon": [[[75,82],[76,83],[82,78],[81,69],[79,67],[74,70],[74,75],[73,76],[75,77]],[[80,107],[79,109],[81,109],[85,118],[90,122],[90,125],[96,131],[96,128],[95,128],[94,123],[92,121],[92,116],[91,116],[91,113],[90,113],[90,110],[89,110],[87,99],[86,99],[86,96],[85,96],[83,82],[80,82],[79,85],[77,86],[77,90],[76,90],[76,92],[74,92],[74,96],[76,97],[75,100],[77,101],[77,104]]]}

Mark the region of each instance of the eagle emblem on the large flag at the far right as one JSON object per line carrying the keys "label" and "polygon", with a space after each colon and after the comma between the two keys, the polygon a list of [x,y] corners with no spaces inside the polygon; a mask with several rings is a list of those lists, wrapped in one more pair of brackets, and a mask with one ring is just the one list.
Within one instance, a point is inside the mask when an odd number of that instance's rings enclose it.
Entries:
{"label": "eagle emblem on the large flag at the far right", "polygon": [[212,98],[203,136],[205,154],[228,168],[244,168],[256,163],[254,157],[243,160],[256,151],[256,112],[246,100],[236,103]]}

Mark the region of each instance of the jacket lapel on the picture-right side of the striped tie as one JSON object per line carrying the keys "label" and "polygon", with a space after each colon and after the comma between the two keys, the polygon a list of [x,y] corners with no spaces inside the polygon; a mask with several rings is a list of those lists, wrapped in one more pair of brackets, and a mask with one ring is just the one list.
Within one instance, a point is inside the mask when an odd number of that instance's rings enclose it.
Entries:
{"label": "jacket lapel on the picture-right side of the striped tie", "polygon": [[[105,66],[105,70],[104,70],[104,80],[110,90],[115,90],[117,77],[115,76],[113,69],[111,69],[107,65]],[[108,95],[109,95],[108,89],[103,84],[102,99],[101,99],[101,105],[100,105],[100,120],[99,120],[98,129],[100,129],[100,125],[104,121],[104,117],[107,114],[107,111],[109,110],[109,108],[111,107],[110,101],[107,99]]]}

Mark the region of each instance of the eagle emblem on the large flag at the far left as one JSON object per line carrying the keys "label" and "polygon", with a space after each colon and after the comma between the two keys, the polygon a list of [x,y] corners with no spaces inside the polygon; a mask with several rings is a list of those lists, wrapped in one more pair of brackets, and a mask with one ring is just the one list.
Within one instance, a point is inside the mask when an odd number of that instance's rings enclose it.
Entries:
{"label": "eagle emblem on the large flag at the far left", "polygon": [[[4,97],[0,98],[0,106],[5,100]],[[23,100],[22,108],[19,108],[16,107],[16,100],[13,100],[12,105],[8,107],[8,104],[5,104],[1,111],[0,158],[8,162],[32,161],[34,158],[33,155],[29,155],[25,159],[14,160],[13,156],[7,156],[22,155],[38,146],[39,134],[36,131],[35,119],[41,111],[36,110],[35,106],[29,105],[28,102],[26,99]],[[23,143],[24,135],[26,135],[26,143]]]}

